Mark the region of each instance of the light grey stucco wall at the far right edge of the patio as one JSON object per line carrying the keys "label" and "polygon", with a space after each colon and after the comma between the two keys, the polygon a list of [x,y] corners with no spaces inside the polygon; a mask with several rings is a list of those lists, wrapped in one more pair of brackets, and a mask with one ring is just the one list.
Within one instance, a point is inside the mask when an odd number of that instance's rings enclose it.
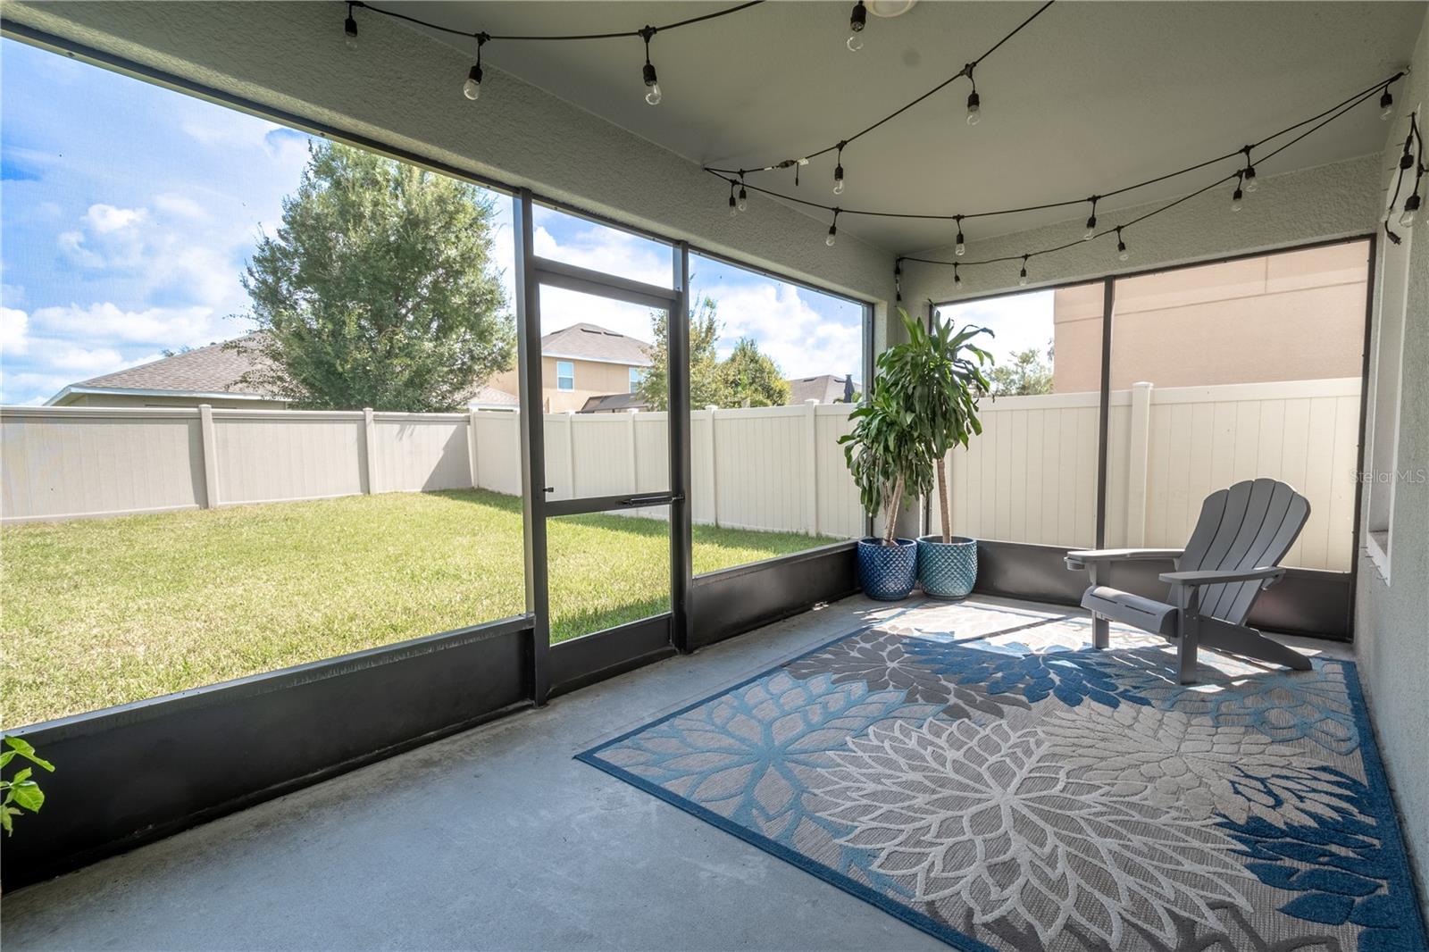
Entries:
{"label": "light grey stucco wall at the far right edge of the patio", "polygon": [[[1403,149],[1403,110],[1429,106],[1429,23],[1419,33],[1412,69],[1405,89],[1395,90],[1400,116],[1388,132],[1385,154],[1378,159],[1379,167],[1386,170],[1376,176],[1378,187],[1388,183],[1388,170],[1398,163]],[[1378,212],[1382,196],[1376,194],[1370,207]],[[1429,373],[1425,373],[1429,367],[1429,224],[1420,219],[1415,233],[1405,313],[1398,469],[1423,473],[1429,469]],[[1390,583],[1383,580],[1360,542],[1355,652],[1419,875],[1420,898],[1426,899],[1429,911],[1429,705],[1425,703],[1429,692],[1429,483],[1399,482],[1390,530]]]}

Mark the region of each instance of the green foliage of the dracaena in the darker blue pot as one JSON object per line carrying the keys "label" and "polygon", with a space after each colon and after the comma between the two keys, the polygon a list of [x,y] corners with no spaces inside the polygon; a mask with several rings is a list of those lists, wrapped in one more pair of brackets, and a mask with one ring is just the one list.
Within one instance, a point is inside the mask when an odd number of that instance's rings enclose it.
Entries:
{"label": "green foliage of the dracaena in the darker blue pot", "polygon": [[[879,360],[882,372],[882,357]],[[859,502],[870,516],[883,513],[883,545],[895,545],[903,499],[926,493],[933,482],[933,460],[917,412],[909,405],[906,392],[890,386],[880,373],[869,402],[849,419],[855,423],[853,432],[840,436],[839,443],[859,487]]]}

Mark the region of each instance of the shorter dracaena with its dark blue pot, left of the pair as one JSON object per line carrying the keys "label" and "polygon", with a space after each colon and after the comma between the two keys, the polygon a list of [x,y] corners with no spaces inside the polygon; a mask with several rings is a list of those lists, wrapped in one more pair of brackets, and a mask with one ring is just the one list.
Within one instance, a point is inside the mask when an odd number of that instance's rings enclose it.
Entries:
{"label": "shorter dracaena with its dark blue pot, left of the pair", "polygon": [[[879,356],[880,367],[887,354]],[[885,519],[883,536],[862,539],[857,549],[859,585],[885,602],[907,598],[917,582],[917,543],[897,537],[897,513],[905,497],[932,485],[933,460],[906,396],[880,373],[869,402],[849,415],[853,432],[839,437],[865,512]]]}

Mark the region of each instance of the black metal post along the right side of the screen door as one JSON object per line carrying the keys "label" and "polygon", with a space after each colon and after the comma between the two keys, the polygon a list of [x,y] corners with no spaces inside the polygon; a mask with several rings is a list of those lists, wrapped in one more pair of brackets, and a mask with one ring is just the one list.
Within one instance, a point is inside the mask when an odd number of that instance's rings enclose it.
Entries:
{"label": "black metal post along the right side of the screen door", "polygon": [[692,550],[694,529],[690,513],[690,246],[672,249],[674,289],[679,300],[664,322],[669,334],[666,380],[670,387],[670,638],[680,653],[693,645],[692,593],[694,587]]}

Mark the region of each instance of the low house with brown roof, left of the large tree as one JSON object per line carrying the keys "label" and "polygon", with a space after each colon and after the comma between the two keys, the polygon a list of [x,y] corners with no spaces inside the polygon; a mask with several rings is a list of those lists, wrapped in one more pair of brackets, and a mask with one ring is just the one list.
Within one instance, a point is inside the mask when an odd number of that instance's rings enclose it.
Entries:
{"label": "low house with brown roof, left of the large tree", "polygon": [[239,385],[254,367],[252,354],[226,343],[176,353],[137,367],[106,373],[64,387],[46,406],[209,406],[283,410],[286,400]]}

